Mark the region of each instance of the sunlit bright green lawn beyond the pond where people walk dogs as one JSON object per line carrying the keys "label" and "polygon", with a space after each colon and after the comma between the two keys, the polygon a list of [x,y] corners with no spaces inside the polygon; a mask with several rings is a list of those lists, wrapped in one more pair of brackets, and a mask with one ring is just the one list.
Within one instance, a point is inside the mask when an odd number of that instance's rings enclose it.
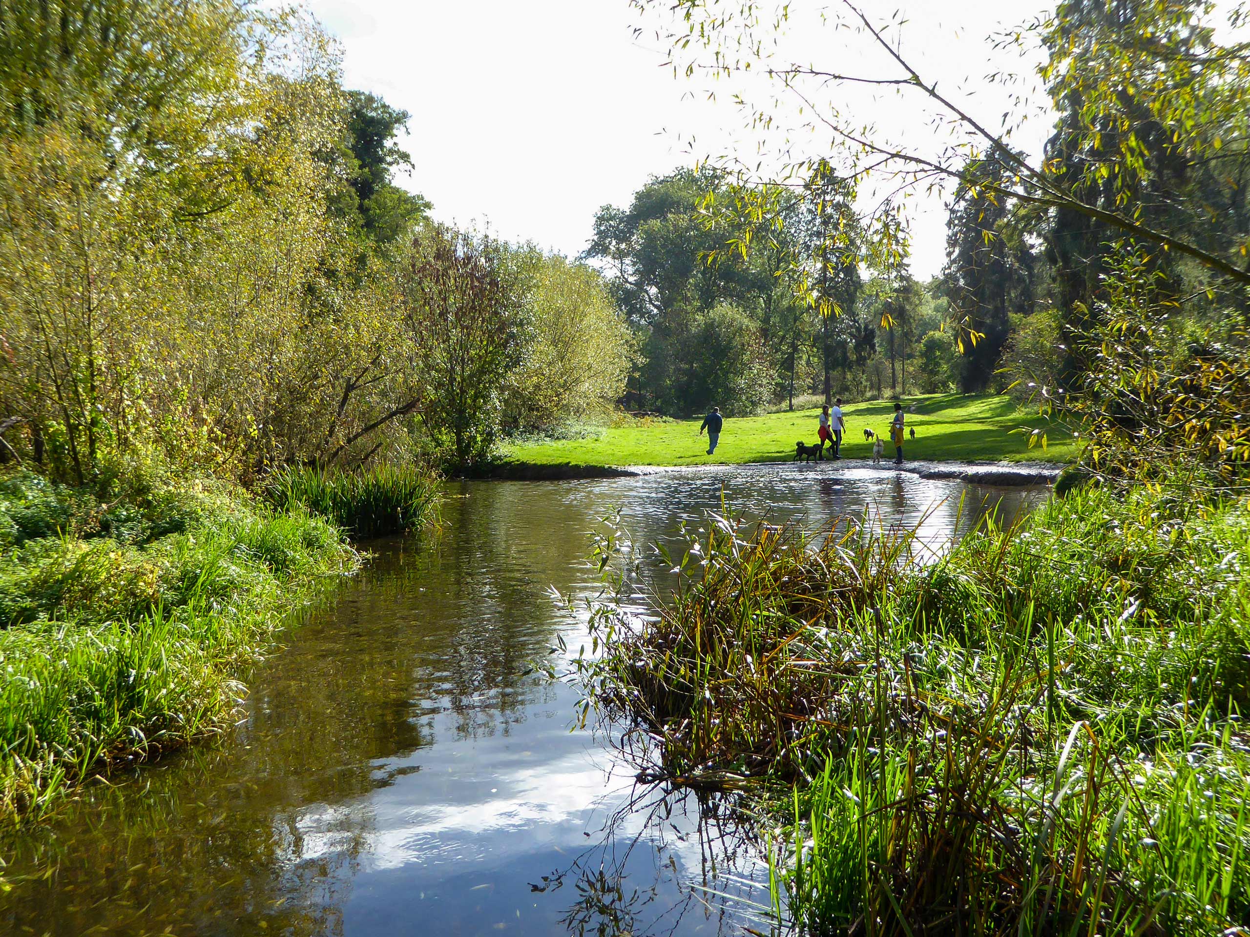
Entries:
{"label": "sunlit bright green lawn beyond the pond where people walk dogs", "polygon": [[[904,456],[909,460],[1009,460],[1066,462],[1076,456],[1071,432],[1059,425],[1048,426],[1048,446],[1029,449],[1024,434],[1011,432],[1021,425],[1046,426],[1035,411],[1019,409],[1010,397],[959,394],[908,397],[906,425],[916,439],[908,440]],[[871,444],[864,441],[864,429],[886,439],[894,414],[891,401],[851,404],[842,407],[846,436],[842,455],[870,459]],[[508,447],[509,461],[535,465],[699,465],[705,462],[771,462],[794,456],[798,440],[816,442],[819,409],[792,414],[769,414],[726,419],[716,455],[708,456],[708,437],[699,436],[701,417],[695,420],[636,420],[604,429],[598,436],[579,440],[528,442]]]}

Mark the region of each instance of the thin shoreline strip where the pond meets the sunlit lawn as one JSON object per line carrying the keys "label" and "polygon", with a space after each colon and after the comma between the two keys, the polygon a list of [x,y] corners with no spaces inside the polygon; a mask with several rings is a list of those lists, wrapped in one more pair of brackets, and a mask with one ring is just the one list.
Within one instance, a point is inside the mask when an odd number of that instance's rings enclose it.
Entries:
{"label": "thin shoreline strip where the pond meets the sunlit lawn", "polygon": [[[896,466],[892,462],[874,465],[869,460],[826,460],[835,466],[834,471],[844,468],[871,468],[880,472],[909,472],[921,478],[941,481],[964,481],[975,485],[1028,486],[1054,485],[1065,467],[1059,462],[938,462],[915,461]],[[782,461],[769,462],[716,462],[699,466],[668,465],[584,465],[579,462],[495,462],[479,468],[466,470],[458,477],[486,481],[576,481],[582,478],[634,478],[661,472],[714,472],[726,467],[752,467],[785,465]],[[812,465],[814,471],[822,471],[825,464]]]}

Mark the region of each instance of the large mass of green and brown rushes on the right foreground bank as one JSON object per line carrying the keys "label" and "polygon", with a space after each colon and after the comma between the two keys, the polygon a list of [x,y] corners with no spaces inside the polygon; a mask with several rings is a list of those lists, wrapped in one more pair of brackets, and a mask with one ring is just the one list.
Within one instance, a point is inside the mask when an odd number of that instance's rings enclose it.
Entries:
{"label": "large mass of green and brown rushes on the right foreground bank", "polygon": [[861,523],[696,536],[658,617],[595,611],[579,670],[650,776],[788,805],[779,923],[1250,925],[1244,503],[1080,491],[928,563]]}

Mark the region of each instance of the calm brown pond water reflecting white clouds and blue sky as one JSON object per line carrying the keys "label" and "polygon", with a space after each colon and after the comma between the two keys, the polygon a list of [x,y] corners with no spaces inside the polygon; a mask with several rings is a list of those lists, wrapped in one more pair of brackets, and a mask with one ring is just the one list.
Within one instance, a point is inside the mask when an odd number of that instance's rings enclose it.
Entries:
{"label": "calm brown pond water reflecting white clouds and blue sky", "polygon": [[[636,788],[575,688],[535,662],[584,623],[588,532],[635,542],[739,512],[809,528],[865,508],[949,542],[990,488],[895,471],[740,466],[448,486],[430,542],[382,541],[249,676],[219,742],[91,786],[4,845],[0,932],[741,933],[759,851],[694,797]],[[700,822],[700,817],[704,822]],[[724,897],[724,896],[729,897]]]}

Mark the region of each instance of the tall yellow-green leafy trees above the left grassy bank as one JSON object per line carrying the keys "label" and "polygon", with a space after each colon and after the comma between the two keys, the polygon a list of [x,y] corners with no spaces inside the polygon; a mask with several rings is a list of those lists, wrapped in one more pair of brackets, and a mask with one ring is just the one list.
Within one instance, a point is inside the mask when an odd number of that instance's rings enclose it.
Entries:
{"label": "tall yellow-green leafy trees above the left grassy bank", "polygon": [[392,285],[331,207],[346,185],[381,237],[401,115],[328,37],[109,0],[20,2],[0,44],[0,459],[81,486],[151,446],[241,480],[402,450]]}

